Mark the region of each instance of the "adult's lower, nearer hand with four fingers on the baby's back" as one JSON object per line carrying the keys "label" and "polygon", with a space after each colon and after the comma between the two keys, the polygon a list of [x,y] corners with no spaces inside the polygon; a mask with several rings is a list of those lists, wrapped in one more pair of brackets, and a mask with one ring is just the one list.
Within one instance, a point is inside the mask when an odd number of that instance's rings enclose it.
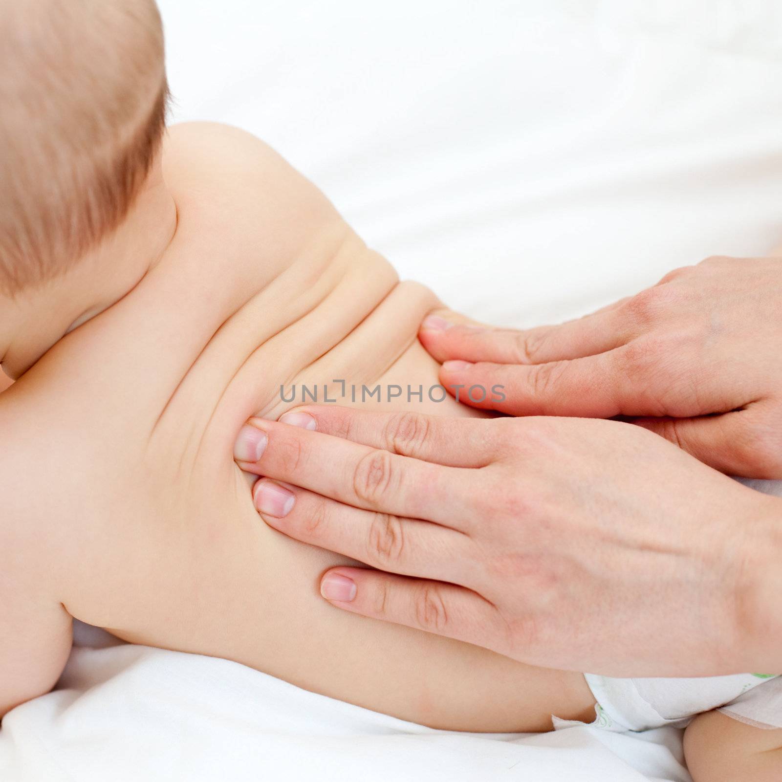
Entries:
{"label": "adult's lower, nearer hand with four fingers on the baby's back", "polygon": [[644,429],[320,406],[235,456],[268,525],[379,569],[325,573],[346,611],[615,676],[782,665],[782,502]]}

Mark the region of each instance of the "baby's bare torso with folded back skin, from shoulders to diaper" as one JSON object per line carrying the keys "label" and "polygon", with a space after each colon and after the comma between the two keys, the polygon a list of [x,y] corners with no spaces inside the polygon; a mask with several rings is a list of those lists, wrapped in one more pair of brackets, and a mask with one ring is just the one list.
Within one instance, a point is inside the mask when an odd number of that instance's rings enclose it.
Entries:
{"label": "baby's bare torso with folded back skin, from shoulders to diaper", "polygon": [[[25,683],[6,708],[51,686],[73,615],[431,726],[588,719],[578,673],[332,608],[318,579],[345,558],[260,522],[232,458],[242,422],[300,403],[281,383],[436,384],[416,333],[437,300],[398,284],[316,188],[240,131],[174,128],[163,170],[178,208],[163,257],[0,397],[2,655]],[[384,406],[475,414],[450,399]]]}

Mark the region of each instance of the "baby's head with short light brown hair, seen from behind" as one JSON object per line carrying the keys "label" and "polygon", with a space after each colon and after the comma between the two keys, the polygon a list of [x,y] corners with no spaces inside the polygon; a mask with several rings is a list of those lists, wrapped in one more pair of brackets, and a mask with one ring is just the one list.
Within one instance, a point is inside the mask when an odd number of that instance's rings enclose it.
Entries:
{"label": "baby's head with short light brown hair, seen from behind", "polygon": [[[99,249],[160,179],[167,94],[153,0],[0,0],[0,361],[10,375],[96,306],[91,288],[109,306],[145,271],[122,253],[108,264]],[[87,268],[96,254],[101,268]]]}

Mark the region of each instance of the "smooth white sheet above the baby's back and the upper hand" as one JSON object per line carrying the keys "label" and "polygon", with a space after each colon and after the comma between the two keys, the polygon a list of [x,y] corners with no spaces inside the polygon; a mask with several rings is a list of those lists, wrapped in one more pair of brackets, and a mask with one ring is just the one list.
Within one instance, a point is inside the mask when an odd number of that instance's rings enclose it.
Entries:
{"label": "smooth white sheet above the baby's back and the upper hand", "polygon": [[176,119],[260,135],[497,324],[782,242],[773,0],[163,2]]}

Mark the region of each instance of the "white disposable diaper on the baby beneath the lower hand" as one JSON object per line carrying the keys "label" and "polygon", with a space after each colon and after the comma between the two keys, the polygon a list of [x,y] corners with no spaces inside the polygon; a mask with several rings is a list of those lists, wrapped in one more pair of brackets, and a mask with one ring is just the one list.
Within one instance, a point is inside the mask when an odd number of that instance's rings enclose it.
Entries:
{"label": "white disposable diaper on the baby beneath the lower hand", "polygon": [[[757,727],[782,727],[782,676],[737,673],[699,679],[612,679],[584,674],[597,701],[595,726],[605,730],[684,727],[714,708]],[[762,685],[762,686],[761,686]],[[561,727],[561,720],[555,720]]]}

